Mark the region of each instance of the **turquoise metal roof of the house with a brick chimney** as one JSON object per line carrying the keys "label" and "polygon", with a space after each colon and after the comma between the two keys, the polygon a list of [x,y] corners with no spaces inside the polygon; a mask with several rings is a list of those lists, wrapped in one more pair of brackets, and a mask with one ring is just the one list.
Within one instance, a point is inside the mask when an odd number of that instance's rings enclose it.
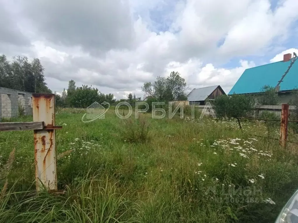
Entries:
{"label": "turquoise metal roof of the house with a brick chimney", "polygon": [[[257,93],[261,92],[264,85],[275,87],[285,71],[288,69],[291,60],[279,61],[258,67],[246,69],[228,95]],[[280,91],[298,88],[298,61],[294,62],[291,69],[280,84]]]}

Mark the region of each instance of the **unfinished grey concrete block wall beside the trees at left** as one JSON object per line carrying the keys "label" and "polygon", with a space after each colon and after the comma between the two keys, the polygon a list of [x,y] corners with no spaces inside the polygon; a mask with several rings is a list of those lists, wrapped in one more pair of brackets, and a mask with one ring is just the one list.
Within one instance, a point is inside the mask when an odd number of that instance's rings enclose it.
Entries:
{"label": "unfinished grey concrete block wall beside the trees at left", "polygon": [[0,119],[18,117],[19,100],[24,106],[25,114],[32,115],[32,93],[0,87]]}

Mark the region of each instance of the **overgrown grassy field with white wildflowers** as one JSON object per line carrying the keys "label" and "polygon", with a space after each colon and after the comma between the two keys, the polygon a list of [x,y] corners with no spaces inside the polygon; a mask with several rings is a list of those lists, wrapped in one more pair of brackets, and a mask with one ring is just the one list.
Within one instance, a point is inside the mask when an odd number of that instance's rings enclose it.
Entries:
{"label": "overgrown grassy field with white wildflowers", "polygon": [[83,114],[56,114],[64,194],[34,190],[33,131],[0,132],[0,222],[268,223],[298,188],[291,131],[284,150],[262,122]]}

